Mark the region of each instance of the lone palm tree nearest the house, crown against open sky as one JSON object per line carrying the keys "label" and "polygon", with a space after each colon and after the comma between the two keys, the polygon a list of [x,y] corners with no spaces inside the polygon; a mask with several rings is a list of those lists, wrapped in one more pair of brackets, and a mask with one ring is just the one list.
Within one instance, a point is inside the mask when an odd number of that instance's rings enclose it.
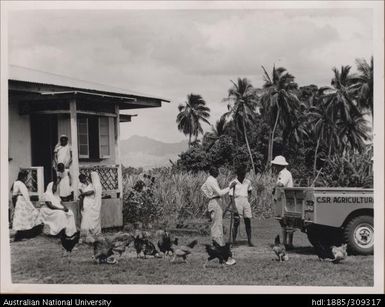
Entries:
{"label": "lone palm tree nearest the house, crown against open sky", "polygon": [[184,135],[189,136],[188,146],[191,145],[191,137],[195,136],[195,141],[199,134],[203,134],[201,121],[210,125],[208,118],[210,117],[210,108],[206,106],[206,102],[200,95],[187,95],[185,104],[178,106],[179,114],[176,122],[178,130]]}

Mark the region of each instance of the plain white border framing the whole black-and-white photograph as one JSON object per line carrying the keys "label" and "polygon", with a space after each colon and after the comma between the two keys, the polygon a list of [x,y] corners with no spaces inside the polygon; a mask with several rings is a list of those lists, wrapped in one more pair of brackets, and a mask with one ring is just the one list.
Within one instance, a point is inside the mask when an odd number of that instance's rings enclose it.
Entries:
{"label": "plain white border framing the whole black-and-white photograph", "polygon": [[[293,287],[293,286],[181,286],[181,285],[47,285],[13,284],[7,222],[8,203],[8,46],[7,12],[25,9],[293,9],[372,8],[375,59],[374,90],[374,189],[375,254],[373,287]],[[1,1],[1,292],[7,293],[383,293],[384,292],[384,3],[382,1]]]}

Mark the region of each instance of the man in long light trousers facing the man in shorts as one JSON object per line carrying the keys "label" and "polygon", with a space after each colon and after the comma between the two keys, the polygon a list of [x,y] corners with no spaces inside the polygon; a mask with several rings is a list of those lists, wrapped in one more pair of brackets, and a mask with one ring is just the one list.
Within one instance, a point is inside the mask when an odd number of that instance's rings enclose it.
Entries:
{"label": "man in long light trousers facing the man in shorts", "polygon": [[[211,238],[217,242],[220,246],[225,245],[223,238],[223,211],[218,203],[218,200],[229,193],[230,189],[233,188],[236,183],[233,182],[229,187],[221,189],[219,187],[217,177],[219,175],[218,168],[211,167],[209,171],[210,176],[207,178],[205,183],[202,185],[201,190],[203,194],[209,199],[208,212],[210,214],[212,225],[211,225]],[[232,258],[226,262],[226,264],[234,264],[235,261]]]}

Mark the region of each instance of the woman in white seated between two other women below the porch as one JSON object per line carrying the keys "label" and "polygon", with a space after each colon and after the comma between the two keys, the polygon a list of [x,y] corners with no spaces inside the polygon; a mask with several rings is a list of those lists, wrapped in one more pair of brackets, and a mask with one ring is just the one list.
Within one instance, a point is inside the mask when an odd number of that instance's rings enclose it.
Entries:
{"label": "woman in white seated between two other women below the porch", "polygon": [[54,181],[48,184],[44,198],[45,206],[40,209],[44,222],[43,232],[55,236],[65,229],[65,234],[72,236],[77,230],[75,216],[71,210],[62,204],[55,176]]}

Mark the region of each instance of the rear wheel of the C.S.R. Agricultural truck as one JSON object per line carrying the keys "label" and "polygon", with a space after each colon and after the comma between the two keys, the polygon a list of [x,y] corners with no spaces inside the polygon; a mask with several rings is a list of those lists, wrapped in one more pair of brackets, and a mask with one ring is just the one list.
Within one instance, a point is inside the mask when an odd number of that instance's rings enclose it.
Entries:
{"label": "rear wheel of the C.S.R. Agricultural truck", "polygon": [[370,255],[374,249],[373,217],[361,215],[350,220],[344,229],[345,241],[352,254]]}

